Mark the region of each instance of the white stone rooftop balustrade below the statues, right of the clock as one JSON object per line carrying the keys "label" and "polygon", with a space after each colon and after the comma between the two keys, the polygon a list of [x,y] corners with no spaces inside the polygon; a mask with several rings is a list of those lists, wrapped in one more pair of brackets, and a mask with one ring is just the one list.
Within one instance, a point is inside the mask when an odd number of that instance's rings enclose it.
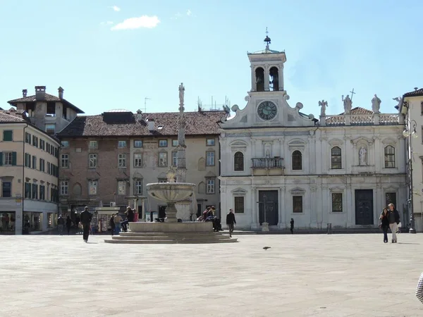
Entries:
{"label": "white stone rooftop balustrade below the statues, right of the clock", "polygon": [[402,125],[404,118],[400,113],[349,114],[321,116],[320,125]]}

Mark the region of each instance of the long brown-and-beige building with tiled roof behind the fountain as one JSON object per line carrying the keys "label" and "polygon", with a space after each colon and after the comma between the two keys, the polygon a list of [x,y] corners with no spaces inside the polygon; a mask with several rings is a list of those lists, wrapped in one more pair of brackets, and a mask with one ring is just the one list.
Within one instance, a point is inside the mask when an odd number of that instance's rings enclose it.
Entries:
{"label": "long brown-and-beige building with tiled roof behind the fountain", "polygon": [[[185,113],[187,182],[197,185],[192,217],[219,207],[219,122],[225,111]],[[145,185],[166,181],[176,166],[178,113],[106,111],[78,116],[57,135],[60,151],[60,208],[116,206],[138,199],[140,218],[163,213],[163,202],[147,197]],[[145,217],[147,215],[147,217]]]}

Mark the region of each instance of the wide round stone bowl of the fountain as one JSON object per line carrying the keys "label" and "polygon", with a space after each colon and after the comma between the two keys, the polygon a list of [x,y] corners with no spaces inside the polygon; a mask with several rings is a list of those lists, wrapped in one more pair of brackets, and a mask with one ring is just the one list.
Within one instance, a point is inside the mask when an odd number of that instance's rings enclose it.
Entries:
{"label": "wide round stone bowl of the fountain", "polygon": [[194,190],[195,184],[188,182],[154,182],[147,184],[147,192],[151,197],[173,204],[191,197]]}

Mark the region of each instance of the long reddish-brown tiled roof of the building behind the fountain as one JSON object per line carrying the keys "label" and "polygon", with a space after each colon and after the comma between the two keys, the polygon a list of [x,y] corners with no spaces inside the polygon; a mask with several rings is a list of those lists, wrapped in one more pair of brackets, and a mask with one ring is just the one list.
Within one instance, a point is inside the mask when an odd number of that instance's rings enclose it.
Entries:
{"label": "long reddish-brown tiled roof of the building behind the fountain", "polygon": [[[160,136],[178,135],[178,113],[142,113],[141,120],[131,112],[78,116],[58,137]],[[225,111],[185,112],[185,135],[217,135]],[[154,119],[154,131],[148,130],[147,118]]]}

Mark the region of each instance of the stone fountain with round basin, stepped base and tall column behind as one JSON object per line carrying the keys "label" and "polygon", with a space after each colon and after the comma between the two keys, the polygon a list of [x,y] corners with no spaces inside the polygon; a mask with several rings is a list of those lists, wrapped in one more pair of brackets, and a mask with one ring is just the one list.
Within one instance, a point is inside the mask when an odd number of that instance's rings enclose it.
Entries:
{"label": "stone fountain with round basin, stepped base and tall column behind", "polygon": [[[176,206],[180,201],[187,201],[195,192],[195,184],[186,182],[185,165],[185,116],[183,107],[185,87],[179,86],[179,118],[178,118],[178,163],[176,170],[168,169],[168,182],[147,184],[150,197],[166,202],[165,222],[129,223],[129,232],[121,232],[112,236],[108,243],[221,243],[237,242],[236,239],[221,232],[213,231],[212,222],[183,222],[178,223]],[[175,181],[176,180],[176,181]],[[185,204],[185,206],[187,206]]]}

